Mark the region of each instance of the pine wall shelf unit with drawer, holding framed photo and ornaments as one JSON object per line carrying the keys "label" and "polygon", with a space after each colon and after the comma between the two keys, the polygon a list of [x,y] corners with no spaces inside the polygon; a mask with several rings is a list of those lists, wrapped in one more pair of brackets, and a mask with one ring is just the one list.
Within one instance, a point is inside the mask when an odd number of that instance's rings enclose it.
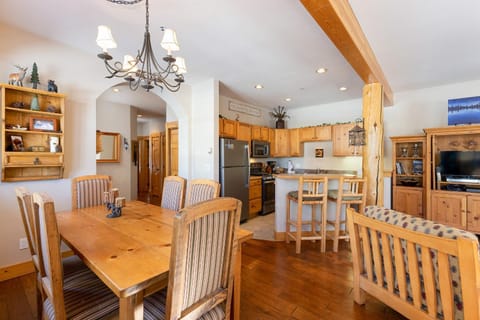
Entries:
{"label": "pine wall shelf unit with drawer, holding framed photo and ornaments", "polygon": [[0,101],[2,181],[63,178],[65,95],[0,84]]}

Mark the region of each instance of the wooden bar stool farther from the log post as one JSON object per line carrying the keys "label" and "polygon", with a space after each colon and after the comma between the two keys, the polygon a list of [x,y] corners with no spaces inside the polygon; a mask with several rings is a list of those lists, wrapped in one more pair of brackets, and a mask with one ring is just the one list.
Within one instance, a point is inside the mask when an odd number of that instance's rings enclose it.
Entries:
{"label": "wooden bar stool farther from the log post", "polygon": [[[321,252],[325,252],[325,230],[327,217],[327,192],[328,178],[306,178],[301,176],[298,179],[297,191],[290,191],[287,194],[287,224],[285,240],[290,243],[290,238],[296,241],[296,253],[300,253],[302,240],[321,240]],[[290,201],[297,203],[297,214],[290,212]],[[310,220],[303,219],[303,206],[312,206]],[[320,216],[317,216],[316,207],[320,206]],[[303,225],[310,225],[310,232],[303,231]],[[294,226],[295,231],[290,227]],[[307,233],[308,232],[308,233]]]}

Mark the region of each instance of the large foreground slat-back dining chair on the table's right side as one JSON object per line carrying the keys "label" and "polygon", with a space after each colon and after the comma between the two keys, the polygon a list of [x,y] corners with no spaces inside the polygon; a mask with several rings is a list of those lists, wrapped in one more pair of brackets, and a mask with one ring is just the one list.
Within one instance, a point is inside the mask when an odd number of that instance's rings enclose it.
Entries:
{"label": "large foreground slat-back dining chair on the table's right side", "polygon": [[144,319],[230,319],[242,203],[217,198],[175,215],[168,287],[144,300]]}

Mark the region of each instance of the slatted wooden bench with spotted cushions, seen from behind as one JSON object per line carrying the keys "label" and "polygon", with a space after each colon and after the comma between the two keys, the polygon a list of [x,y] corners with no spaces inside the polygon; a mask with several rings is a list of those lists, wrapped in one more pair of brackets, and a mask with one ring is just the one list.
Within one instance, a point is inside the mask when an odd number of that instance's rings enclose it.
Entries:
{"label": "slatted wooden bench with spotted cushions, seen from behind", "polygon": [[367,292],[410,319],[480,319],[476,235],[377,206],[347,214],[357,303]]}

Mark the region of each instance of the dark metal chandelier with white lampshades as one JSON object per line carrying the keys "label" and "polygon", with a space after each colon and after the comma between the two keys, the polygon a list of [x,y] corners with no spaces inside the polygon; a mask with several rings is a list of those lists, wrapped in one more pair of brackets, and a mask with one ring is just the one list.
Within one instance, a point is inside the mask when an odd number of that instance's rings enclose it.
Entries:
{"label": "dark metal chandelier with white lampshades", "polygon": [[[116,4],[135,4],[142,0],[107,0]],[[155,58],[150,42],[149,30],[149,11],[148,0],[145,1],[145,35],[143,39],[142,49],[138,51],[134,58],[131,55],[125,55],[123,62],[115,61],[112,63],[112,56],[108,53],[108,49],[117,47],[117,43],[113,39],[112,31],[107,26],[98,26],[97,44],[102,48],[102,53],[97,56],[105,63],[105,68],[110,75],[106,78],[124,78],[128,81],[131,90],[137,90],[139,86],[147,92],[154,88],[154,85],[167,88],[172,92],[180,89],[180,85],[184,82],[183,74],[187,72],[185,60],[181,57],[173,57],[172,51],[180,50],[177,42],[175,31],[171,29],[161,28],[164,32],[161,46],[167,51],[167,55],[163,57],[166,63],[163,67]]]}

